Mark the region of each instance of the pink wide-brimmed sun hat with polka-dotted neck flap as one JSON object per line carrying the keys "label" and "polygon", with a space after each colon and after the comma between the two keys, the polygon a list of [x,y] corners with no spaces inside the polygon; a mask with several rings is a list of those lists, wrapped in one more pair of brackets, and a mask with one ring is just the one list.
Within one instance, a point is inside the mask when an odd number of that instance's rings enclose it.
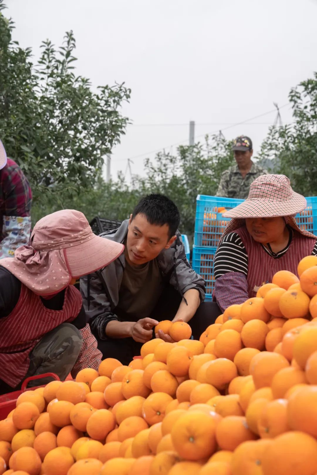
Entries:
{"label": "pink wide-brimmed sun hat with polka-dotted neck flap", "polygon": [[37,221],[31,245],[18,247],[14,257],[0,260],[0,266],[35,294],[52,295],[72,278],[107,266],[123,249],[123,244],[95,236],[83,213],[63,209]]}

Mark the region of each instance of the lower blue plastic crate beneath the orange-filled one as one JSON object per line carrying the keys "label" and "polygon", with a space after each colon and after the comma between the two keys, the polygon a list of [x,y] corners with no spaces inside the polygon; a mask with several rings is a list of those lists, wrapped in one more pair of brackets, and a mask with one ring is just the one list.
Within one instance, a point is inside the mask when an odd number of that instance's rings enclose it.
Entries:
{"label": "lower blue plastic crate beneath the orange-filled one", "polygon": [[193,269],[203,277],[206,283],[206,300],[213,299],[214,291],[214,254],[216,247],[193,246]]}

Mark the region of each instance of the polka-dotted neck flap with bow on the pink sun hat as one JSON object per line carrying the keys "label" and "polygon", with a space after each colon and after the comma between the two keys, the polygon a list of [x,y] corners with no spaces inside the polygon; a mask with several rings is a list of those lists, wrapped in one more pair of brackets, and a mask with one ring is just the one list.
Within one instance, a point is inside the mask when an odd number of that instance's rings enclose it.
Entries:
{"label": "polka-dotted neck flap with bow on the pink sun hat", "polygon": [[16,249],[14,257],[0,260],[19,281],[37,295],[53,295],[70,283],[65,249],[37,251],[31,246]]}

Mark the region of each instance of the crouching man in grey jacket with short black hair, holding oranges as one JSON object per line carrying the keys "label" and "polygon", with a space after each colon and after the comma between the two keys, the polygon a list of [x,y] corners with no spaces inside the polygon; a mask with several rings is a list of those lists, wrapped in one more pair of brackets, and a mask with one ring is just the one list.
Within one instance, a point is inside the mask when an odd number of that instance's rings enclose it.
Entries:
{"label": "crouching man in grey jacket with short black hair, holding oranges", "polygon": [[[205,282],[186,259],[177,230],[179,219],[170,199],[153,194],[140,200],[119,229],[102,234],[123,243],[124,253],[107,267],[83,277],[80,288],[104,358],[129,363],[153,337],[158,320],[189,322],[204,300]],[[172,315],[151,318],[167,286],[179,295],[178,309]],[[171,341],[161,331],[158,336]]]}

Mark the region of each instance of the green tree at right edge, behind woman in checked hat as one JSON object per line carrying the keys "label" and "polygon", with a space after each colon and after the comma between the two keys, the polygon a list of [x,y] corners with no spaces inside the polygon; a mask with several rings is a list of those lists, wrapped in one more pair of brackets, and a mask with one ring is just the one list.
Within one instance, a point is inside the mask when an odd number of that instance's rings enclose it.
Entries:
{"label": "green tree at right edge, behind woman in checked hat", "polygon": [[274,170],[288,176],[294,190],[317,195],[317,73],[291,89],[292,124],[270,127],[259,158],[273,159]]}

